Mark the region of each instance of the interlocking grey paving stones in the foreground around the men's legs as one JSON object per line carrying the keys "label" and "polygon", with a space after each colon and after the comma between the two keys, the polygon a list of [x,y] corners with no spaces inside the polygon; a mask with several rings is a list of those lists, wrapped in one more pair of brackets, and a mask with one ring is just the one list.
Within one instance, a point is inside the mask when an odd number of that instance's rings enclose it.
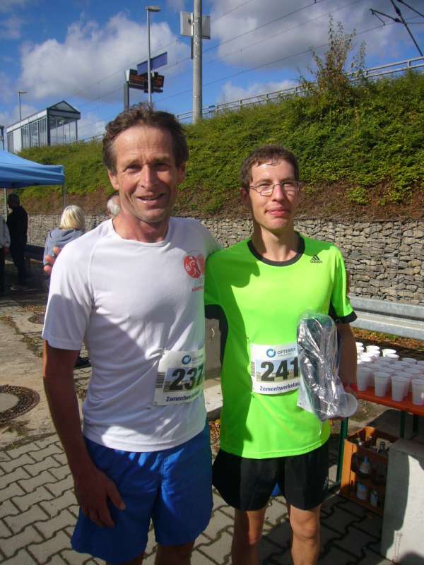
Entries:
{"label": "interlocking grey paving stones in the foreground around the men's legs", "polygon": [[[0,453],[0,564],[100,564],[77,554],[70,537],[78,506],[59,439],[52,433]],[[232,509],[217,492],[208,528],[196,541],[192,565],[231,563]],[[259,552],[261,563],[290,563],[287,507],[272,499]],[[382,518],[332,494],[322,508],[320,564],[389,565],[379,555]],[[146,565],[153,565],[155,540],[149,533]]]}

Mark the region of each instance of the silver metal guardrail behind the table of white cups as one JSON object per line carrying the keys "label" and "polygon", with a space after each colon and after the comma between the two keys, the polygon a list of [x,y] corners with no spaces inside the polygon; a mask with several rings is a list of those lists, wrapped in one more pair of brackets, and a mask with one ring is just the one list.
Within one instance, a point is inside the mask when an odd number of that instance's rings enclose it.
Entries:
{"label": "silver metal guardrail behind the table of white cups", "polygon": [[424,340],[424,306],[351,296],[354,328]]}

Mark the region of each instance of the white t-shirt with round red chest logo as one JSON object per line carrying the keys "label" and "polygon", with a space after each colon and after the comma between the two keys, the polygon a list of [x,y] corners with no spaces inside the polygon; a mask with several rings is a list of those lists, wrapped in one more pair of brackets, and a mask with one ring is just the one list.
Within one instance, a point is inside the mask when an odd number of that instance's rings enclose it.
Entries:
{"label": "white t-shirt with round red chest logo", "polygon": [[107,220],[61,251],[42,337],[59,349],[79,350],[83,341],[88,347],[89,439],[124,451],[158,451],[204,428],[203,391],[184,403],[153,400],[164,352],[204,346],[204,262],[216,249],[200,222],[170,218],[163,242],[122,239]]}

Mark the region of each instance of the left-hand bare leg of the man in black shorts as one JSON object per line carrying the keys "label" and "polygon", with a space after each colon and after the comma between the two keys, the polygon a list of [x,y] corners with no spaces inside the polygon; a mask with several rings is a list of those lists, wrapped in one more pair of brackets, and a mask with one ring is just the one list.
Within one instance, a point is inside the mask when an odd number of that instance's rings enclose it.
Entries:
{"label": "left-hand bare leg of the man in black shorts", "polygon": [[232,537],[232,565],[259,565],[258,544],[264,527],[266,507],[261,510],[235,510]]}

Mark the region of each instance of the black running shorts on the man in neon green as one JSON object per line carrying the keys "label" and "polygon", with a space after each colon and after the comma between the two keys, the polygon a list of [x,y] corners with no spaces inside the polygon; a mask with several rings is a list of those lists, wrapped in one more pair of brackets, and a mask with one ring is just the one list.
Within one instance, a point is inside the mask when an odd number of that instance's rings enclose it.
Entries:
{"label": "black running shorts on the man in neon green", "polygon": [[212,482],[225,502],[238,510],[264,508],[277,485],[288,504],[312,510],[328,492],[328,441],[309,453],[269,459],[248,459],[220,450]]}

